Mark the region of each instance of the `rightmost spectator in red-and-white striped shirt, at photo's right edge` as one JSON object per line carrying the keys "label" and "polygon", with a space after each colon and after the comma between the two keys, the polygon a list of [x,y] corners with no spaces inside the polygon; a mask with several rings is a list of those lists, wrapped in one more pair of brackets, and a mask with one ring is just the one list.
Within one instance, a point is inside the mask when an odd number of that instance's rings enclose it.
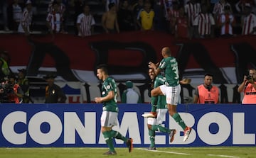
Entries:
{"label": "rightmost spectator in red-and-white striped shirt, at photo's right edge", "polygon": [[256,16],[250,4],[245,4],[245,15],[242,16],[242,35],[256,35]]}

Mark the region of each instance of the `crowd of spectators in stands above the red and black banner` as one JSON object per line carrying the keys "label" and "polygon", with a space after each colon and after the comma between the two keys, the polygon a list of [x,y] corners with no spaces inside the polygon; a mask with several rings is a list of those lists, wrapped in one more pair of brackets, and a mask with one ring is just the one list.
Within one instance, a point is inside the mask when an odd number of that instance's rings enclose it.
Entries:
{"label": "crowd of spectators in stands above the red and black banner", "polygon": [[26,35],[131,30],[161,30],[179,38],[248,35],[255,34],[255,13],[255,0],[1,1],[2,29]]}

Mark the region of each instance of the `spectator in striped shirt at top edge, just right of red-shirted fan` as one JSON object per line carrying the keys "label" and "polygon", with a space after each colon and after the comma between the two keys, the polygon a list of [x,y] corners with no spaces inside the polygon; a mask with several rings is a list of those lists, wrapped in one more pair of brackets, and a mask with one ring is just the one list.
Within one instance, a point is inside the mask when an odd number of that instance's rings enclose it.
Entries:
{"label": "spectator in striped shirt at top edge, just right of red-shirted fan", "polygon": [[188,21],[190,26],[188,28],[188,33],[190,37],[195,37],[194,33],[196,32],[193,28],[193,23],[195,18],[198,16],[198,14],[201,12],[201,5],[196,0],[190,0],[188,1],[188,4],[185,6],[185,13],[188,15]]}

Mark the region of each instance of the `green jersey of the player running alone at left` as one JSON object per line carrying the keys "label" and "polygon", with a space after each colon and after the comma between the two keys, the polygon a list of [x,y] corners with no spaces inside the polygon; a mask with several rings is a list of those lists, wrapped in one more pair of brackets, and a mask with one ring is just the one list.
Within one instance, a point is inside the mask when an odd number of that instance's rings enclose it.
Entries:
{"label": "green jersey of the player running alone at left", "polygon": [[114,98],[103,103],[103,111],[118,112],[117,107],[117,84],[111,77],[107,77],[102,84],[102,97],[107,96],[110,91],[114,91]]}

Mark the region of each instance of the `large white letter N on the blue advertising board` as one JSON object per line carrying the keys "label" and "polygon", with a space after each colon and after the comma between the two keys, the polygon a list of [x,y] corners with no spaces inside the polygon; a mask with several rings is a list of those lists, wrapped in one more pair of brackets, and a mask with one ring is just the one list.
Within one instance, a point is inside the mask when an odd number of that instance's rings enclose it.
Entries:
{"label": "large white letter N on the blue advertising board", "polygon": [[75,131],[84,144],[96,142],[96,113],[85,113],[84,125],[75,112],[64,113],[64,144],[75,144]]}

